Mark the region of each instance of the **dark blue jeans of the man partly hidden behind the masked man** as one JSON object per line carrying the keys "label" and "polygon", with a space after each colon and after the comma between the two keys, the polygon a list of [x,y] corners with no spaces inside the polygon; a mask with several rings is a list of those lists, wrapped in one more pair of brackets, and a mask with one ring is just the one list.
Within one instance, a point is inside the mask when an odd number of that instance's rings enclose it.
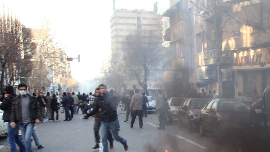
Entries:
{"label": "dark blue jeans of the man partly hidden behind the masked man", "polygon": [[[15,128],[10,127],[10,123],[8,123],[8,143],[10,146],[11,152],[17,152],[16,144],[20,147],[20,149],[24,152],[25,147],[21,139],[18,136],[18,123],[15,123]],[[16,143],[16,144],[15,144]]]}

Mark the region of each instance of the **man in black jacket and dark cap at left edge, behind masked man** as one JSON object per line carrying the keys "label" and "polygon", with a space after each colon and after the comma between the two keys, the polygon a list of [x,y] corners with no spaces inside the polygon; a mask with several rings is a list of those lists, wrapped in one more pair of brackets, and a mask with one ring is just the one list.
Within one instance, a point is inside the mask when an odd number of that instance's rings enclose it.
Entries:
{"label": "man in black jacket and dark cap at left edge, behind masked man", "polygon": [[19,139],[19,136],[17,134],[19,128],[18,123],[15,123],[15,128],[11,128],[10,126],[12,99],[14,97],[16,97],[16,94],[14,93],[13,86],[6,86],[4,99],[2,101],[2,104],[0,105],[0,109],[4,111],[4,122],[8,122],[8,143],[10,146],[10,151],[17,151],[16,144],[19,146],[21,151],[25,151],[23,142],[21,141],[21,139]]}

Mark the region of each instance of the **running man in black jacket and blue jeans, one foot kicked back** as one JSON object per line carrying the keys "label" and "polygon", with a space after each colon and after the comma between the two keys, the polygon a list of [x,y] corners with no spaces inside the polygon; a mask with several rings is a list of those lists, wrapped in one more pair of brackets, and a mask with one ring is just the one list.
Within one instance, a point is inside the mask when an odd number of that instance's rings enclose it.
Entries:
{"label": "running man in black jacket and blue jeans, one foot kicked back", "polygon": [[113,94],[109,94],[106,92],[106,85],[101,84],[99,85],[99,95],[96,98],[96,106],[93,108],[93,110],[88,113],[84,114],[84,116],[92,116],[96,114],[97,112],[100,112],[101,117],[101,134],[102,134],[102,145],[103,145],[103,152],[108,152],[108,132],[109,129],[112,130],[112,134],[115,140],[121,142],[121,144],[124,145],[125,151],[127,151],[127,141],[120,137],[118,135],[118,129],[117,129],[117,113],[116,113],[116,105],[117,105],[117,97]]}

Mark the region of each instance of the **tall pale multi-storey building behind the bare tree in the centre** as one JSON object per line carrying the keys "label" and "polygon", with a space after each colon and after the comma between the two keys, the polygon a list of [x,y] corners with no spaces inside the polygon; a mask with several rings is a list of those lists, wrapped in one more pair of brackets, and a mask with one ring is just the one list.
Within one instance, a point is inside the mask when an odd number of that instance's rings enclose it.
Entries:
{"label": "tall pale multi-storey building behind the bare tree in the centre", "polygon": [[[157,4],[156,4],[157,5]],[[116,9],[111,17],[111,49],[112,49],[112,67],[126,79],[121,84],[121,90],[133,89],[135,85],[139,89],[141,86],[135,78],[130,77],[127,71],[121,69],[125,48],[127,47],[127,36],[136,34],[138,31],[142,36],[151,36],[162,38],[162,15],[157,14],[157,7],[154,5],[153,11],[144,9]],[[149,71],[148,89],[158,89],[158,82],[162,80],[162,71]]]}

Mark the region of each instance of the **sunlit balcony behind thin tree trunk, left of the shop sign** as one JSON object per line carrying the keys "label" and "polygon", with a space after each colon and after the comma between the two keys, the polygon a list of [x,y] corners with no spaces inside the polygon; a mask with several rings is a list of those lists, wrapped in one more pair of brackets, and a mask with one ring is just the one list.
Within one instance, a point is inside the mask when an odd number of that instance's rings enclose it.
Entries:
{"label": "sunlit balcony behind thin tree trunk, left of the shop sign", "polygon": [[[217,63],[217,55],[218,52],[216,49],[204,51],[199,53],[199,66],[209,66]],[[219,64],[220,65],[228,65],[231,64],[231,58],[228,56],[219,56]]]}

